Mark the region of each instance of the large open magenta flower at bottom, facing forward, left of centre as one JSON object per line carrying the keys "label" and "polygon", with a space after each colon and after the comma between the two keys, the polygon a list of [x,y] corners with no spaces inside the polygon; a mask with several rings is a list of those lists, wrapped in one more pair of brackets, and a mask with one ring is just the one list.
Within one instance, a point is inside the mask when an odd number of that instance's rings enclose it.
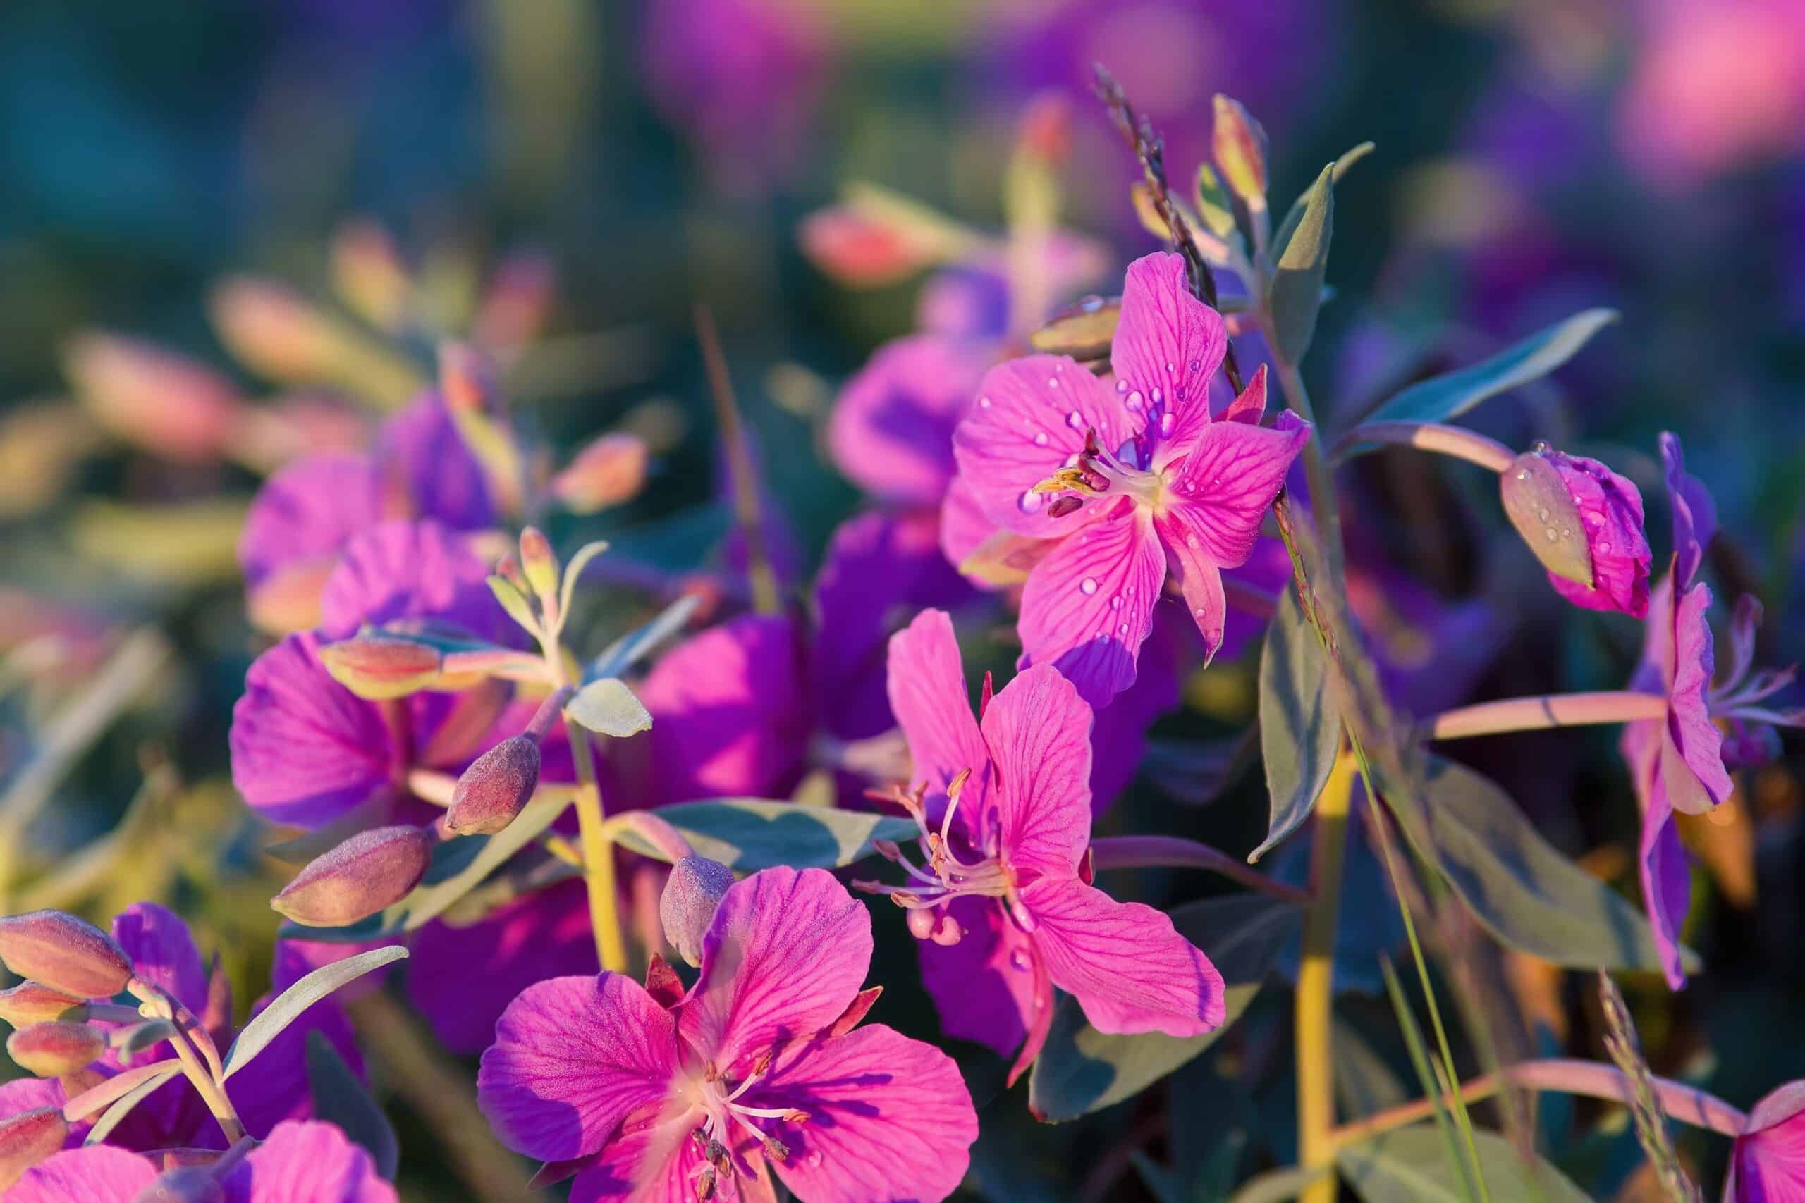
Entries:
{"label": "large open magenta flower at bottom, facing forward, left of centre", "polygon": [[477,1102],[576,1199],[944,1199],[978,1134],[940,1050],[857,1026],[872,922],[821,869],[764,869],[720,900],[695,985],[662,1005],[621,974],[522,994]]}

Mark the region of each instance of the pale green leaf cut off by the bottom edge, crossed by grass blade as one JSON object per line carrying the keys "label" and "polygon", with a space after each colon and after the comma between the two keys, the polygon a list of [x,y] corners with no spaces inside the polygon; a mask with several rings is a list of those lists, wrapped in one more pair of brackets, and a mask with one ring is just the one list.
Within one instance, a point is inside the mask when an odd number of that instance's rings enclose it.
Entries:
{"label": "pale green leaf cut off by the bottom edge, crossed by grass blade", "polygon": [[[1541,1203],[1587,1203],[1587,1196],[1565,1174],[1516,1151],[1498,1133],[1476,1131],[1486,1189],[1495,1199],[1540,1199]],[[1336,1154],[1336,1163],[1365,1203],[1460,1203],[1460,1171],[1433,1127],[1415,1125],[1363,1140]]]}

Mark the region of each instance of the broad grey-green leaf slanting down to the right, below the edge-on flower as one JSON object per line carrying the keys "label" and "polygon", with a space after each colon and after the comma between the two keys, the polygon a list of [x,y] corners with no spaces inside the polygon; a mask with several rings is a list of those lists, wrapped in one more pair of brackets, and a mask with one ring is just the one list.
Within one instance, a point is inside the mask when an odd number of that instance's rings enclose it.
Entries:
{"label": "broad grey-green leaf slanting down to the right, below the edge-on flower", "polygon": [[1572,969],[1661,970],[1643,913],[1558,853],[1480,774],[1431,756],[1422,781],[1384,783],[1383,794],[1417,853],[1504,943]]}

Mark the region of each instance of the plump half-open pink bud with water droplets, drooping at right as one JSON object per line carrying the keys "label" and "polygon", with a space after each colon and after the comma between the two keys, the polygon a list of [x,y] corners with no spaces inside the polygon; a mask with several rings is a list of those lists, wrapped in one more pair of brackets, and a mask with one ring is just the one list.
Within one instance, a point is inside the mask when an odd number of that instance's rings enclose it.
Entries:
{"label": "plump half-open pink bud with water droplets, drooping at right", "polygon": [[1634,483],[1597,460],[1536,444],[1504,469],[1498,492],[1556,593],[1587,610],[1648,615],[1653,557]]}

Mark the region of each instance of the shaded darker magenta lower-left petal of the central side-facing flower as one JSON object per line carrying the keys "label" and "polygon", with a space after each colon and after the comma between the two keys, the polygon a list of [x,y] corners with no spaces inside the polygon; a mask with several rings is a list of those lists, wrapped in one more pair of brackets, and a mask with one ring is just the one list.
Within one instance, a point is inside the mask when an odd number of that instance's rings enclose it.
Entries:
{"label": "shaded darker magenta lower-left petal of the central side-facing flower", "polygon": [[940,1032],[1007,1057],[1034,1015],[1034,949],[993,898],[958,898],[946,913],[958,943],[921,941],[921,983],[940,1012]]}

